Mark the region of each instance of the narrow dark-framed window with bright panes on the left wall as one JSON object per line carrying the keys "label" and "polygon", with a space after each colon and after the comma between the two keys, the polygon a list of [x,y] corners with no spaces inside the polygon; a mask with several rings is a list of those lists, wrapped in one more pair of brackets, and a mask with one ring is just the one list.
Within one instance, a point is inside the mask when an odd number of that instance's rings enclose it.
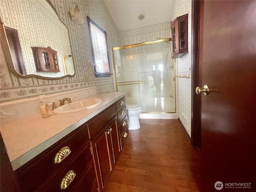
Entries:
{"label": "narrow dark-framed window with bright panes on the left wall", "polygon": [[94,23],[88,16],[88,28],[92,47],[92,58],[96,66],[94,71],[98,72],[96,77],[110,77],[110,64],[108,56],[107,33]]}

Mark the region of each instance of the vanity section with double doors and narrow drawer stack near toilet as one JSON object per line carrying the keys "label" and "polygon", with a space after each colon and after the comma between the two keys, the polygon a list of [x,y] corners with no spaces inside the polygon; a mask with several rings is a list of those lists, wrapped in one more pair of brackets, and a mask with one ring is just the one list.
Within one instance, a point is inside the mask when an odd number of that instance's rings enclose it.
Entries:
{"label": "vanity section with double doors and narrow drawer stack near toilet", "polygon": [[[111,115],[113,112],[115,114],[114,116]],[[100,122],[98,122],[99,119],[101,120]],[[126,122],[123,125],[124,121]],[[98,130],[96,128],[97,125],[101,127],[103,124],[106,126],[95,136],[95,130]],[[124,134],[126,128],[128,130],[125,98],[116,102],[95,120],[88,123],[88,131],[91,139],[90,144],[100,192],[104,190],[104,186],[111,175],[122,146],[125,143],[125,140],[121,139],[120,136]]]}

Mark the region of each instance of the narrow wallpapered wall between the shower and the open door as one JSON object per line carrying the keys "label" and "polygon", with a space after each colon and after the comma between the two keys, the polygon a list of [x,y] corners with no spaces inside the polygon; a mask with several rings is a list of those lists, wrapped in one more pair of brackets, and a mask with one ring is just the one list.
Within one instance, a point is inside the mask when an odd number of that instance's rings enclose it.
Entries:
{"label": "narrow wallpapered wall between the shower and the open door", "polygon": [[[188,53],[182,58],[176,59],[177,75],[190,73],[191,76],[191,0],[175,0],[172,7],[171,19],[188,13]],[[176,78],[178,90],[178,113],[182,124],[191,136],[191,78]]]}

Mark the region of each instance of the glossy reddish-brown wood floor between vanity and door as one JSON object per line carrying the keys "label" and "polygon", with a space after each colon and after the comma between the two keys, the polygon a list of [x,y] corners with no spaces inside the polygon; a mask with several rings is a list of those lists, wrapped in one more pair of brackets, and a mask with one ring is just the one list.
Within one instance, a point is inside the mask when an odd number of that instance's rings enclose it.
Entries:
{"label": "glossy reddish-brown wood floor between vanity and door", "polygon": [[140,119],[104,192],[199,192],[200,151],[178,120]]}

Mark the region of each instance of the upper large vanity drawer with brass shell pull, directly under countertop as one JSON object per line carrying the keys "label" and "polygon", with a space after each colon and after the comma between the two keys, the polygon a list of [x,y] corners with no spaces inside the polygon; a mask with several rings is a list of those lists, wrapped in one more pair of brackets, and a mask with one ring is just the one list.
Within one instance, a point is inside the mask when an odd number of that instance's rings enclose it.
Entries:
{"label": "upper large vanity drawer with brass shell pull, directly under countertop", "polygon": [[[44,150],[38,156],[21,166],[15,171],[22,191],[34,191],[46,180],[53,180],[63,167],[66,167],[76,156],[89,144],[89,136],[86,125],[78,127],[76,130]],[[64,147],[68,147],[71,152],[62,162],[54,163],[56,154]],[[63,154],[68,150],[64,149]],[[46,182],[47,183],[47,182]]]}

